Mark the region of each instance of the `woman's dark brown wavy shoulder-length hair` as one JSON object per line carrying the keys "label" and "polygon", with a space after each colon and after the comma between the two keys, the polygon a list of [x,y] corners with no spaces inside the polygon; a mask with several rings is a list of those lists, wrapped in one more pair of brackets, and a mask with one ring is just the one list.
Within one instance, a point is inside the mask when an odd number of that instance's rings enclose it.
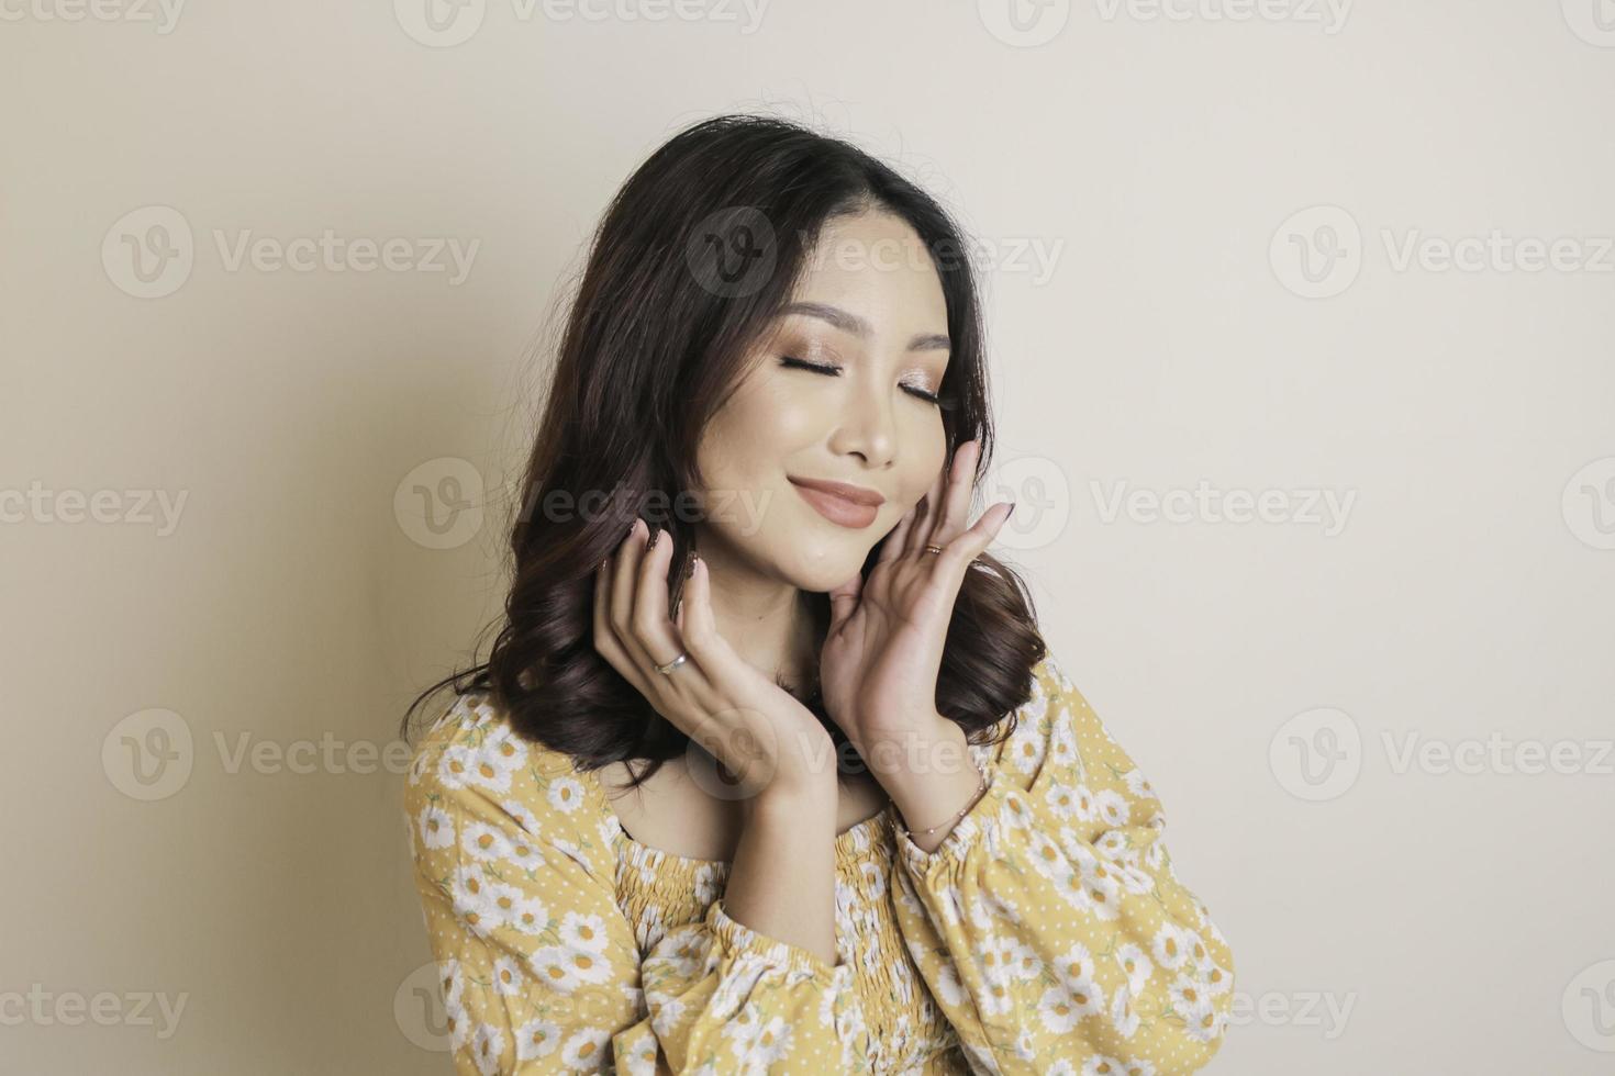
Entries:
{"label": "woman's dark brown wavy shoulder-length hair", "polygon": [[[512,584],[488,661],[423,690],[401,736],[418,707],[452,687],[488,694],[518,736],[581,769],[646,761],[633,784],[688,749],[690,737],[594,650],[594,571],[641,516],[673,540],[677,608],[703,518],[701,432],[769,339],[825,224],[864,211],[908,221],[937,269],[951,340],[940,387],[948,455],[980,439],[980,482],[993,447],[985,342],[950,215],[858,147],[795,121],[724,115],[685,127],[633,173],[594,232],[515,502]],[[883,542],[869,550],[866,578]],[[804,598],[827,626],[827,595]],[[937,711],[972,744],[996,742],[1013,731],[1001,719],[1030,699],[1045,653],[1030,592],[984,553],[948,624]],[[803,702],[845,752],[817,689]]]}

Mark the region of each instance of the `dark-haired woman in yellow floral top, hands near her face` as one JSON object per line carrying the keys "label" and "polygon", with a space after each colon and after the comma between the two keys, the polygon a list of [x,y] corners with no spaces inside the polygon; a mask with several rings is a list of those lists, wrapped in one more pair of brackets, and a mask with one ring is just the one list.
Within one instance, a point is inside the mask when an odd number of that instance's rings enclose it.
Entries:
{"label": "dark-haired woman in yellow floral top, hands near her face", "polygon": [[1166,1076],[1221,1045],[1232,955],[1161,803],[985,553],[1013,505],[966,519],[963,250],[772,118],[694,124],[614,200],[504,624],[417,699],[455,690],[405,810],[460,1073]]}

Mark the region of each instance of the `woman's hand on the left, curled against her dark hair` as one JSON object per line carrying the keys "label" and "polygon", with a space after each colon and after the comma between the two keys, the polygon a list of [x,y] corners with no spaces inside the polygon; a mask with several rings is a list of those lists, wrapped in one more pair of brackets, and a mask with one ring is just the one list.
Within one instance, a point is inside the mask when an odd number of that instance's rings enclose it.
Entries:
{"label": "woman's hand on the left, curled against her dark hair", "polygon": [[[594,582],[594,649],[652,708],[724,765],[740,794],[774,800],[837,786],[835,745],[811,710],[717,632],[706,561],[696,557],[678,616],[667,613],[672,537],[633,531]],[[657,665],[688,655],[669,674]]]}

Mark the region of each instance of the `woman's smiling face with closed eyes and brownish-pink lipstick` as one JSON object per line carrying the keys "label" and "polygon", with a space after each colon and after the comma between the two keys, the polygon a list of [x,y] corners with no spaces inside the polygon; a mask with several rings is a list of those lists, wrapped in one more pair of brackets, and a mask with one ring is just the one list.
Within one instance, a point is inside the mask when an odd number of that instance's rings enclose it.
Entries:
{"label": "woman's smiling face with closed eyes and brownish-pink lipstick", "polygon": [[[715,560],[804,590],[851,579],[945,461],[942,411],[925,397],[942,387],[946,332],[942,282],[908,223],[866,213],[828,224],[772,339],[703,434],[703,555],[717,539],[727,548]],[[825,498],[803,481],[879,503]]]}

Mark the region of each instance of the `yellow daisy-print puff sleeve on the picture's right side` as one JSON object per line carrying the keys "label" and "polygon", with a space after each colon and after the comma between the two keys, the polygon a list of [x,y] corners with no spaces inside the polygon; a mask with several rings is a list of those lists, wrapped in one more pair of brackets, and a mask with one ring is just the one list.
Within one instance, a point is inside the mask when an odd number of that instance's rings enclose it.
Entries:
{"label": "yellow daisy-print puff sleeve on the picture's right side", "polygon": [[1223,1042],[1234,958],[1177,879],[1150,782],[1053,657],[988,789],[930,853],[898,829],[898,926],[995,1073],[1176,1076]]}

